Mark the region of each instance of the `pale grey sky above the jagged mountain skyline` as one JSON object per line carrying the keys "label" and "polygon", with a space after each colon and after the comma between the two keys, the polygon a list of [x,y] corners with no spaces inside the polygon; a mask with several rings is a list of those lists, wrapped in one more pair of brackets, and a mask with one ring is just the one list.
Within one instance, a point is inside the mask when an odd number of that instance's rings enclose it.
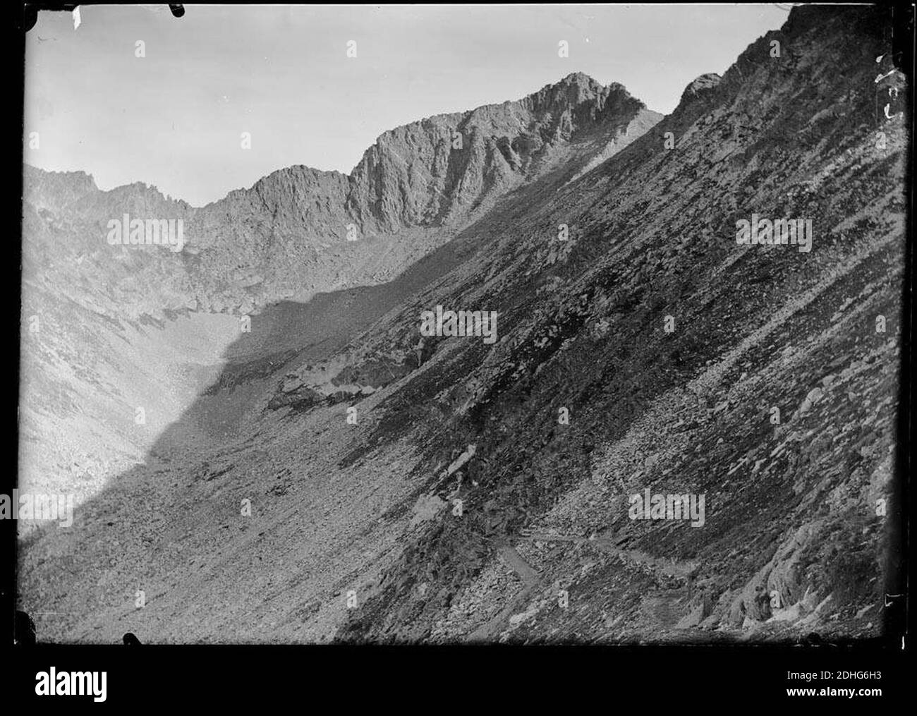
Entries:
{"label": "pale grey sky above the jagged mountain skyline", "polygon": [[26,44],[25,160],[202,205],[292,164],[349,173],[387,129],[570,72],[668,114],[785,8],[185,6],[176,18],[164,5],[83,6],[75,30],[69,13],[41,12]]}

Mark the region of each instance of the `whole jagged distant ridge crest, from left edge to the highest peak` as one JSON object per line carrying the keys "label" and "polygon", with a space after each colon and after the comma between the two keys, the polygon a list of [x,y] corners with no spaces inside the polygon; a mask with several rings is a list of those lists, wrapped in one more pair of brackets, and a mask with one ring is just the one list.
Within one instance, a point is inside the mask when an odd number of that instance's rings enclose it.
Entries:
{"label": "whole jagged distant ridge crest, from left edge to the highest peak", "polygon": [[[142,183],[100,192],[82,172],[27,166],[24,194],[63,225],[67,236],[55,240],[97,257],[100,272],[111,252],[109,219],[182,218],[182,254],[143,250],[127,259],[122,252],[151,300],[132,306],[112,297],[112,314],[249,314],[283,299],[391,280],[506,193],[558,165],[590,160],[623,133],[639,136],[659,117],[621,85],[602,87],[575,73],[516,102],[386,132],[349,176],[289,167],[194,208]],[[45,198],[51,193],[62,197],[57,204]]]}

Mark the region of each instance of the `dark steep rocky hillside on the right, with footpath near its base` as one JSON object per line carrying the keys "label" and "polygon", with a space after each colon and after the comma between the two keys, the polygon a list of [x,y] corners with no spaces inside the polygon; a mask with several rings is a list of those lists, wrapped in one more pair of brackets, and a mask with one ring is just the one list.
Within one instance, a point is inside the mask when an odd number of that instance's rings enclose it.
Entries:
{"label": "dark steep rocky hillside on the right, with footpath near its base", "polygon": [[[463,515],[420,530],[341,638],[880,633],[907,142],[893,121],[876,148],[881,33],[873,10],[794,10],[568,191],[492,216],[488,255],[392,318],[385,342],[410,342],[411,316],[436,303],[497,310],[503,330],[498,347],[465,340],[399,384],[348,457],[411,435],[428,457],[403,508],[460,495]],[[812,252],[736,246],[753,212],[811,217]],[[468,444],[465,479],[440,479],[433,466]],[[627,496],[646,487],[705,494],[706,524],[628,519]],[[690,586],[666,560],[690,565]],[[507,621],[514,599],[525,618]]]}

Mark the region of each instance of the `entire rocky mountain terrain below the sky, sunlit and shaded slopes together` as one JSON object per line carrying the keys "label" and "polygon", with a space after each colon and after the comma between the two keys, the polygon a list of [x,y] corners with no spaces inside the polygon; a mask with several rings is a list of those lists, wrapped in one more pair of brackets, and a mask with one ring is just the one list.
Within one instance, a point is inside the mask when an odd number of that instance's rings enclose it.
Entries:
{"label": "entire rocky mountain terrain below the sky, sunlit and shaded slopes together", "polygon": [[[877,90],[909,90],[875,81],[887,25],[796,7],[661,119],[577,74],[415,123],[349,177],[174,204],[199,253],[129,254],[124,274],[101,253],[55,268],[94,193],[37,180],[24,303],[51,318],[24,328],[20,464],[67,486],[74,456],[137,456],[83,468],[72,528],[23,539],[22,606],[62,612],[39,641],[889,633],[910,119],[877,115]],[[761,217],[806,240],[741,243]],[[401,247],[391,280],[343,260],[377,240]],[[319,241],[341,262],[290,273]],[[233,246],[259,292],[228,288]],[[347,288],[276,303],[327,285],[319,264]],[[266,306],[250,333],[215,313],[243,295]],[[421,341],[436,306],[496,312],[495,340]],[[691,519],[635,519],[647,491],[691,497]]]}

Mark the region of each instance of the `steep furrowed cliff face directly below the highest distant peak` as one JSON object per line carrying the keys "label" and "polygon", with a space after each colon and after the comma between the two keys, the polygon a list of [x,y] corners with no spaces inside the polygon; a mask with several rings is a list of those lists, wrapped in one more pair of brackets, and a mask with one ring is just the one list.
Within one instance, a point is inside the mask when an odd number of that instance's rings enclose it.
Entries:
{"label": "steep furrowed cliff face directly below the highest distant peak", "polygon": [[348,206],[383,230],[454,222],[537,176],[552,152],[594,133],[613,138],[644,109],[621,85],[580,72],[518,102],[399,127],[353,171]]}

